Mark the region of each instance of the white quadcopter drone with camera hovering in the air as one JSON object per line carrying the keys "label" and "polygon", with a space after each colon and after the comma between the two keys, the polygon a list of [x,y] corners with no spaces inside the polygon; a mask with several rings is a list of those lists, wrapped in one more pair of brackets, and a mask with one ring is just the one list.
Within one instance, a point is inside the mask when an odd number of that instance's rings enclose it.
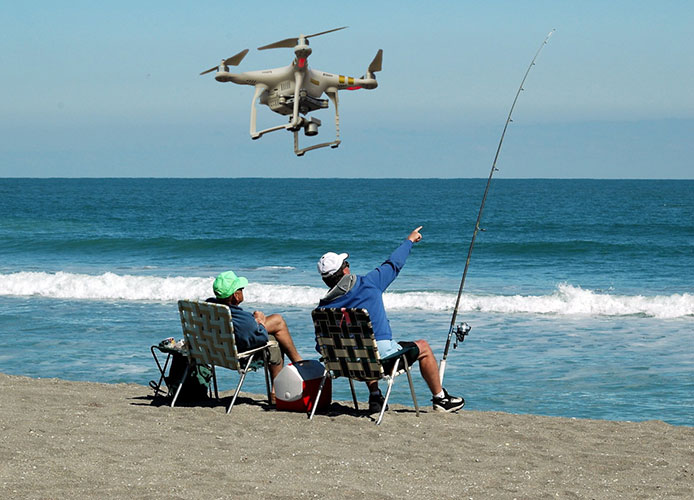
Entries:
{"label": "white quadcopter drone with camera hovering in the air", "polygon": [[[381,71],[383,61],[383,50],[380,49],[374,57],[366,73],[360,78],[351,76],[335,75],[325,71],[313,70],[308,67],[308,56],[311,55],[309,38],[325,35],[333,31],[347,28],[334,28],[328,31],[321,31],[312,35],[299,35],[297,38],[285,38],[279,42],[271,43],[258,47],[258,50],[276,49],[281,47],[293,48],[295,59],[289,66],[282,68],[266,69],[259,71],[247,71],[245,73],[229,73],[229,66],[238,66],[248,49],[244,49],[238,54],[223,59],[219,66],[215,66],[200,73],[205,75],[212,71],[217,71],[215,80],[218,82],[232,82],[239,85],[252,85],[255,87],[253,100],[251,101],[251,139],[260,139],[264,134],[275,130],[289,130],[294,133],[294,153],[303,156],[307,151],[330,146],[337,148],[340,145],[340,112],[338,110],[339,90],[358,90],[375,89],[378,87],[375,73]],[[299,147],[299,132],[304,131],[308,137],[318,134],[318,127],[321,121],[315,117],[307,115],[318,109],[328,108],[328,99],[322,99],[325,94],[332,101],[335,108],[335,139],[329,142],[322,142],[305,148]],[[256,102],[264,104],[275,113],[288,116],[289,123],[277,125],[265,130],[256,128]],[[303,116],[302,116],[303,115]]]}

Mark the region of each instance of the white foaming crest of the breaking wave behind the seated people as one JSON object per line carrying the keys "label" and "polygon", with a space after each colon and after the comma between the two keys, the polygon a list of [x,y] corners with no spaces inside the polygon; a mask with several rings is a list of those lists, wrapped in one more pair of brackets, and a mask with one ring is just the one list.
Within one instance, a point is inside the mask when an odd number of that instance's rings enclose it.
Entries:
{"label": "white foaming crest of the breaking wave behind the seated people", "polygon": [[[204,299],[211,295],[212,276],[158,277],[18,272],[0,274],[0,295],[59,299],[170,302],[181,298]],[[325,288],[252,283],[246,288],[249,303],[313,307]],[[383,297],[389,310],[451,311],[455,294],[444,292],[389,292]],[[560,284],[548,295],[474,295],[461,297],[462,311],[504,314],[589,316],[641,315],[654,318],[694,316],[694,295],[615,295]]]}

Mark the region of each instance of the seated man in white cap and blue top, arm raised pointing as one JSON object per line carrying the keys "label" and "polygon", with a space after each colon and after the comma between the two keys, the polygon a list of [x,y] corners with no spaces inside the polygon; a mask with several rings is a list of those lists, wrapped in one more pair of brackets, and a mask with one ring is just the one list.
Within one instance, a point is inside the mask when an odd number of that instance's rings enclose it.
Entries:
{"label": "seated man in white cap and blue top, arm raised pointing", "polygon": [[[412,231],[402,244],[395,249],[388,260],[378,266],[366,276],[357,276],[349,271],[349,254],[328,252],[318,261],[318,272],[323,282],[330,287],[330,291],[318,303],[318,307],[357,307],[366,309],[371,317],[374,337],[378,344],[378,352],[382,357],[388,356],[402,348],[402,345],[416,345],[419,354],[419,369],[433,396],[434,410],[452,412],[459,410],[465,404],[460,397],[451,396],[441,386],[439,369],[431,346],[426,340],[414,342],[394,342],[390,322],[383,306],[383,292],[405,265],[410,255],[412,246],[422,239],[420,230],[422,226]],[[402,345],[401,345],[402,344]],[[373,397],[372,392],[372,397]],[[371,398],[370,398],[371,399]]]}

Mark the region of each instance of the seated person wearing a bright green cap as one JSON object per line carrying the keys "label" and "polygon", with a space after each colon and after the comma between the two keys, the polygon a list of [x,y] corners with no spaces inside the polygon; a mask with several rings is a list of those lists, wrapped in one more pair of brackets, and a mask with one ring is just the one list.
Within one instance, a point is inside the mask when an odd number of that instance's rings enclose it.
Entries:
{"label": "seated person wearing a bright green cap", "polygon": [[265,316],[261,311],[253,311],[251,314],[239,307],[239,304],[243,302],[243,289],[246,285],[248,280],[243,276],[236,276],[234,271],[223,272],[212,284],[215,296],[207,299],[207,302],[223,304],[231,310],[239,352],[259,347],[268,339],[277,342],[276,346],[270,348],[270,366],[268,367],[274,380],[282,369],[284,354],[292,363],[297,363],[303,358],[296,350],[287,323],[280,314]]}

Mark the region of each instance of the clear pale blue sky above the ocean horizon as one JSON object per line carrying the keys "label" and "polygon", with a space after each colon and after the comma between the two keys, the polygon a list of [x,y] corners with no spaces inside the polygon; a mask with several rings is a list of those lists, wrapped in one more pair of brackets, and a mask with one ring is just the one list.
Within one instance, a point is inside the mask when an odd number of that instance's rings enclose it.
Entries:
{"label": "clear pale blue sky above the ocean horizon", "polygon": [[[693,179],[694,2],[4,2],[0,177],[487,177]],[[253,88],[199,73],[277,68],[301,33],[340,92],[337,149],[250,139]],[[266,107],[260,126],[286,118]],[[334,137],[333,111],[313,142]],[[311,138],[301,137],[310,144]]]}

